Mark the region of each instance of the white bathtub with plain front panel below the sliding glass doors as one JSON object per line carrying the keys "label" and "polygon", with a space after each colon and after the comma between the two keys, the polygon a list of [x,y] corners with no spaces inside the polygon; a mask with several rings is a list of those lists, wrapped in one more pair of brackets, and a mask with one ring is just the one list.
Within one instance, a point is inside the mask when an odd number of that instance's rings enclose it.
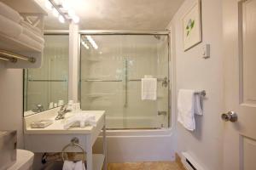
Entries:
{"label": "white bathtub with plain front panel below the sliding glass doors", "polygon": [[[143,123],[145,119],[146,117],[130,117],[129,122]],[[147,121],[155,122],[152,119]],[[108,119],[108,123],[119,123],[122,127],[122,121],[118,117]],[[107,141],[109,162],[175,160],[176,144],[172,128],[107,130]],[[94,150],[96,153],[101,152],[102,137],[97,140]]]}

